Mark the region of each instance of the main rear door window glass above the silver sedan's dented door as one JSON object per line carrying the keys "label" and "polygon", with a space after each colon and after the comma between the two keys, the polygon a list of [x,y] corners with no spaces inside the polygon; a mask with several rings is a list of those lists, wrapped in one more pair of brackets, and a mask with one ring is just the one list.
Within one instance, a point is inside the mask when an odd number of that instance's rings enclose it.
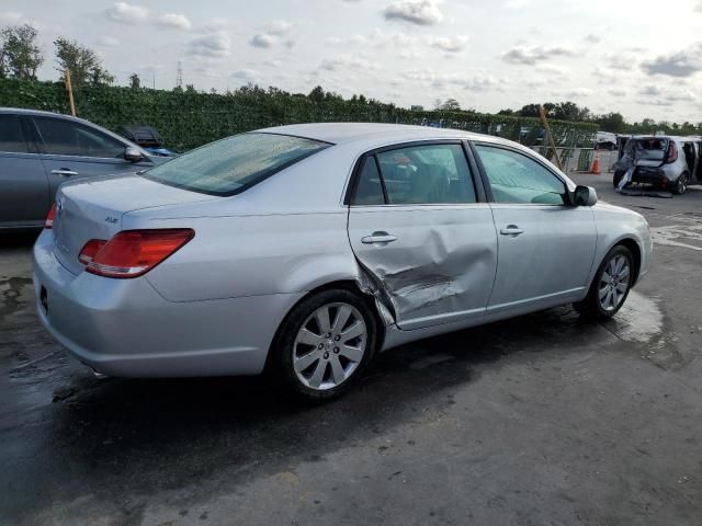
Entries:
{"label": "main rear door window glass above the silver sedan's dented door", "polygon": [[376,155],[390,205],[475,203],[461,145],[421,145]]}

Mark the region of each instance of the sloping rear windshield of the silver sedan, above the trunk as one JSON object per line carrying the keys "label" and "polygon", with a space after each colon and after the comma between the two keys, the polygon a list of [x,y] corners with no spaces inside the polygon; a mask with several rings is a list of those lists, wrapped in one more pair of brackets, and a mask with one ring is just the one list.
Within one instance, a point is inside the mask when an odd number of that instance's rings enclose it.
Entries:
{"label": "sloping rear windshield of the silver sedan, above the trunk", "polygon": [[203,194],[234,195],[330,145],[274,134],[241,134],[145,172],[147,179]]}

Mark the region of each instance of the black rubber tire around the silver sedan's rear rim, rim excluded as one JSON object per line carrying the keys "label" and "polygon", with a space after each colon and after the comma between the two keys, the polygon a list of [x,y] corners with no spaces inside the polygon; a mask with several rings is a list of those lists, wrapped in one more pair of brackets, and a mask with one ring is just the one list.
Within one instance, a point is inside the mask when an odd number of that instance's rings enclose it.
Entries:
{"label": "black rubber tire around the silver sedan's rear rim, rim excluded", "polygon": [[[367,329],[366,348],[361,363],[353,371],[353,375],[343,381],[340,386],[327,390],[316,390],[305,386],[299,381],[293,367],[293,345],[295,338],[305,320],[318,308],[329,305],[344,302],[355,307]],[[272,352],[274,363],[271,364],[278,368],[279,376],[286,388],[308,400],[327,400],[336,398],[349,390],[373,359],[377,345],[377,321],[373,311],[369,306],[369,301],[360,295],[347,289],[328,289],[316,293],[304,298],[298,302],[290,315],[285,318],[275,338]]]}

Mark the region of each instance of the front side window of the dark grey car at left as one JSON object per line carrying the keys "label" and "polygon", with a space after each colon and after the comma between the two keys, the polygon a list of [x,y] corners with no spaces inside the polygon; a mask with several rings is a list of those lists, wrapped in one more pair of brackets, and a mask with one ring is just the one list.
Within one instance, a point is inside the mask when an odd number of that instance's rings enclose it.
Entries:
{"label": "front side window of the dark grey car at left", "polygon": [[58,118],[36,117],[45,153],[116,159],[125,145],[82,124]]}

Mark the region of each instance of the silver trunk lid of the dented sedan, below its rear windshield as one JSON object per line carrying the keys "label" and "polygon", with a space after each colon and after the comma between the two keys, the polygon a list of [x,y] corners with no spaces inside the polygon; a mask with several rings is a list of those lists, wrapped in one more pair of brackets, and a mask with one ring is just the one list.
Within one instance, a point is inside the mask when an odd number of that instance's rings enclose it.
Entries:
{"label": "silver trunk lid of the dented sedan, below its rear windshield", "polygon": [[83,271],[78,255],[91,239],[109,240],[122,229],[124,214],[156,206],[217,199],[167,186],[138,175],[80,180],[56,194],[54,253],[72,274]]}

